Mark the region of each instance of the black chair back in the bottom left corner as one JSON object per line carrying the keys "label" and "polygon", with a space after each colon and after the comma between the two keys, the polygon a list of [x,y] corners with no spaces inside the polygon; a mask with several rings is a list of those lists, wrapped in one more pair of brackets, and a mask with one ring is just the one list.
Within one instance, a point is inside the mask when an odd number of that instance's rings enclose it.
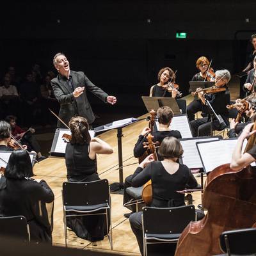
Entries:
{"label": "black chair back in the bottom left corner", "polygon": [[0,236],[30,241],[29,225],[24,216],[0,217]]}

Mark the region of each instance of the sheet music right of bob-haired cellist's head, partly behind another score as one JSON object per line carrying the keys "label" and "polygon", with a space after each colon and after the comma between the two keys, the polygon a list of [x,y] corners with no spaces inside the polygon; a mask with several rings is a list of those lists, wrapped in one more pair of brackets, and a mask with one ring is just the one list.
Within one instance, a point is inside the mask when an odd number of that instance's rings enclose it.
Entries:
{"label": "sheet music right of bob-haired cellist's head, partly behind another score", "polygon": [[184,150],[184,154],[182,157],[183,164],[186,164],[186,166],[188,166],[189,169],[203,168],[200,155],[196,148],[196,142],[213,141],[213,140],[219,140],[219,138],[209,137],[209,138],[202,138],[202,139],[195,138],[192,140],[180,140],[180,144],[182,145],[182,148]]}

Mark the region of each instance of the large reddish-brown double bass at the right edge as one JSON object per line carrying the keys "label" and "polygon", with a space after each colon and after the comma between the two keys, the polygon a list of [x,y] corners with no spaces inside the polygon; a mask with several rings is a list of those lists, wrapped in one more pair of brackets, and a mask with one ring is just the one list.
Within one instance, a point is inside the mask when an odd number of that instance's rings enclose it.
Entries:
{"label": "large reddish-brown double bass at the right edge", "polygon": [[[256,122],[253,129],[256,129]],[[253,134],[245,152],[255,141]],[[207,176],[202,199],[208,212],[202,220],[191,221],[184,229],[175,256],[220,254],[219,237],[223,231],[252,227],[256,222],[255,186],[256,172],[251,166],[236,171],[228,163],[212,170]]]}

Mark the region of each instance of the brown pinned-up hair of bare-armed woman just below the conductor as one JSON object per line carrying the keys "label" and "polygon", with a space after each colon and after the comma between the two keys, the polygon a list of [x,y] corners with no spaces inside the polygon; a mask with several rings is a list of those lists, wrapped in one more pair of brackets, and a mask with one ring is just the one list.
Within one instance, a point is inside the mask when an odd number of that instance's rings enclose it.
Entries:
{"label": "brown pinned-up hair of bare-armed woman just below the conductor", "polygon": [[86,118],[82,116],[73,116],[68,122],[70,127],[72,144],[84,144],[90,143],[91,136],[89,133],[89,124]]}

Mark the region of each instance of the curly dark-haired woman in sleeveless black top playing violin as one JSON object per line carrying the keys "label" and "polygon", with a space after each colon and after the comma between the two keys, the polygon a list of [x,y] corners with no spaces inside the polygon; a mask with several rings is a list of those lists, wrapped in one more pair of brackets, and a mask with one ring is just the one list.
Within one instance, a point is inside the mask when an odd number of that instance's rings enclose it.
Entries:
{"label": "curly dark-haired woman in sleeveless black top playing violin", "polygon": [[154,84],[150,88],[150,97],[172,97],[175,98],[177,96],[178,88],[171,88],[168,86],[168,82],[175,82],[175,73],[172,68],[165,67],[159,70],[157,79],[159,83]]}

